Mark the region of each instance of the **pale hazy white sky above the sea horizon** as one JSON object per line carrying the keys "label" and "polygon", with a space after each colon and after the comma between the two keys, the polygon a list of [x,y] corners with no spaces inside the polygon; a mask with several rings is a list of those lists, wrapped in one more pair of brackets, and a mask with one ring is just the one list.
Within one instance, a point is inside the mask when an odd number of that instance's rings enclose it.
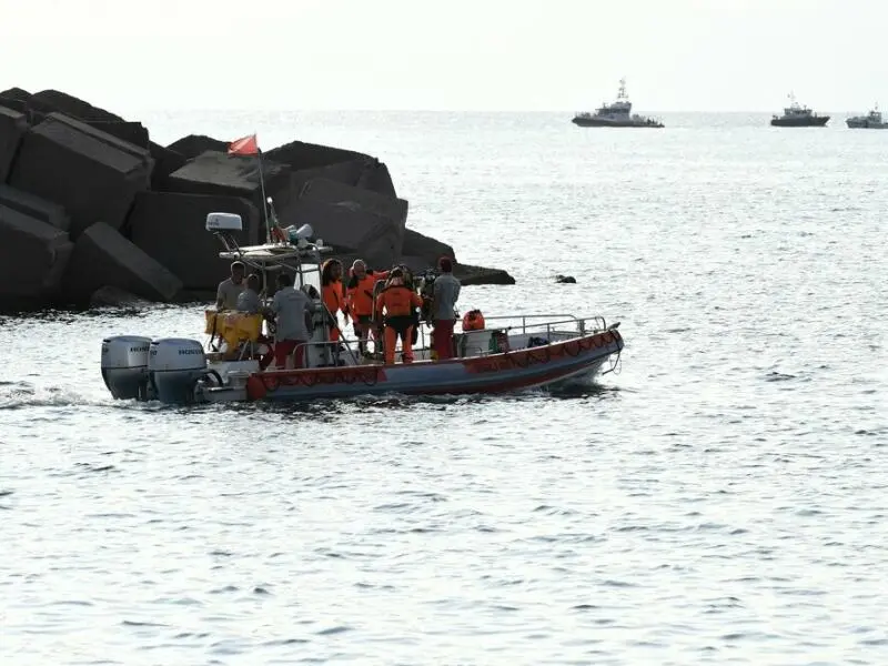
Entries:
{"label": "pale hazy white sky above the sea horizon", "polygon": [[0,90],[111,109],[888,109],[877,0],[0,0]]}

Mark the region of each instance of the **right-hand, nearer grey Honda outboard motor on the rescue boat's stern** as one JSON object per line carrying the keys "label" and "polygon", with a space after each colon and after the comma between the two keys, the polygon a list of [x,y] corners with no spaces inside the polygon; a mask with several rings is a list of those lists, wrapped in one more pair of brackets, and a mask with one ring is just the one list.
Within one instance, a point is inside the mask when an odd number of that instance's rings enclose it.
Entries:
{"label": "right-hand, nearer grey Honda outboard motor on the rescue boat's stern", "polygon": [[184,337],[155,340],[148,356],[148,374],[160,402],[193,403],[198,380],[206,374],[203,346]]}

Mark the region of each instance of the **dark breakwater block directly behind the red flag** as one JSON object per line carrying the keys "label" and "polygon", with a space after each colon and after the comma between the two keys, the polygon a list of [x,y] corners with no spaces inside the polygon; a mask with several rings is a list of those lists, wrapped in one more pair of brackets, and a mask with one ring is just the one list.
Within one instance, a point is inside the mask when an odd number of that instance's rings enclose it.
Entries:
{"label": "dark breakwater block directly behind the red flag", "polygon": [[[285,204],[293,195],[290,168],[263,158],[262,171],[265,195],[274,198],[275,205]],[[259,160],[250,155],[203,152],[169,175],[167,190],[182,194],[243,196],[263,209]]]}

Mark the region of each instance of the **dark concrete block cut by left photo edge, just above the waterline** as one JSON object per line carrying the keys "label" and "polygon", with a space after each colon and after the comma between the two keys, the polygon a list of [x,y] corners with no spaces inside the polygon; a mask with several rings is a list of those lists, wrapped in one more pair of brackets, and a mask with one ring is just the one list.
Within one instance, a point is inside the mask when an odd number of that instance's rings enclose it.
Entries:
{"label": "dark concrete block cut by left photo edge, just above the waterline", "polygon": [[72,250],[63,231],[0,205],[0,302],[40,306],[52,300]]}

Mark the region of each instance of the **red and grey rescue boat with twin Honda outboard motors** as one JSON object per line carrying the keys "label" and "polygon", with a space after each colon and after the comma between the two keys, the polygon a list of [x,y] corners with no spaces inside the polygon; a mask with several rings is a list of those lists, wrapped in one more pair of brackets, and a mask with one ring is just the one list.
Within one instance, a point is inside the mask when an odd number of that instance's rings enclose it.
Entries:
{"label": "red and grey rescue boat with twin Honda outboard motors", "polygon": [[[271,201],[270,201],[271,203]],[[526,314],[485,316],[467,313],[457,320],[455,356],[436,360],[431,326],[420,325],[414,360],[385,364],[382,354],[361,354],[356,340],[330,340],[336,319],[321,299],[322,255],[331,252],[321,239],[310,241],[310,225],[275,230],[275,241],[239,246],[233,232],[242,230],[239,215],[210,213],[205,228],[219,238],[219,256],[240,260],[263,276],[290,271],[294,286],[313,300],[312,337],[302,350],[303,367],[261,370],[268,352],[270,322],[262,314],[205,311],[205,341],[140,335],[115,335],[102,341],[101,372],[111,395],[119,400],[195,404],[253,401],[312,401],[386,393],[404,395],[491,394],[532,387],[588,382],[617,367],[623,350],[619,323],[603,317]],[[430,292],[434,273],[420,276]],[[472,316],[468,316],[468,315]],[[287,365],[292,364],[292,357]]]}

